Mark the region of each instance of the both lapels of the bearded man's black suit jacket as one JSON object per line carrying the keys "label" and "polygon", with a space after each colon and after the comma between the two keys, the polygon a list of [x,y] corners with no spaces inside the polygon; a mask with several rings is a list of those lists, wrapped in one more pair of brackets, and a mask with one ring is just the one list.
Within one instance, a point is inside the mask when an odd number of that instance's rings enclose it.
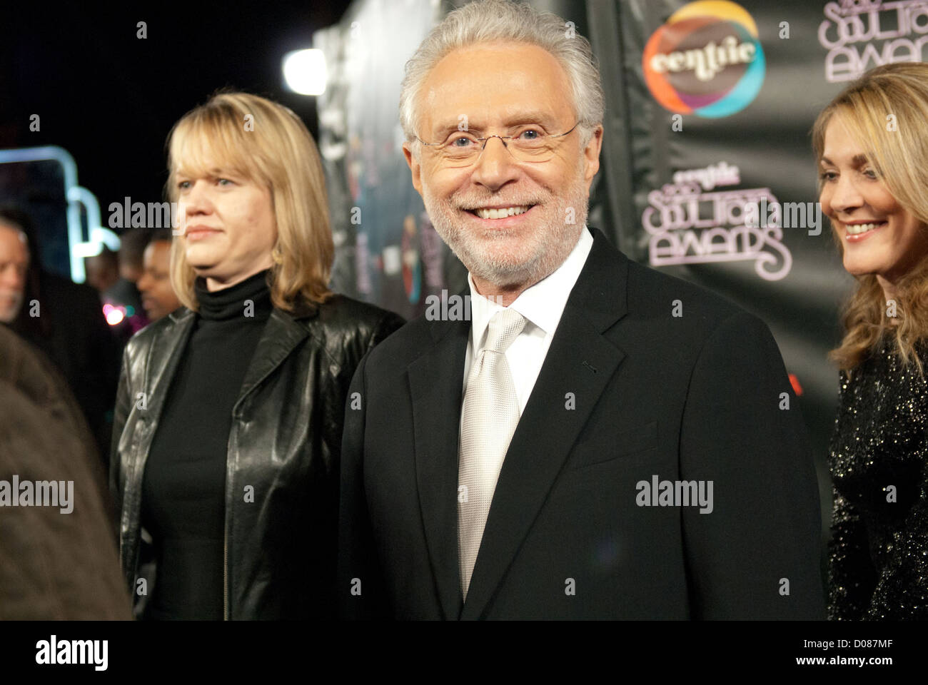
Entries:
{"label": "both lapels of the bearded man's black suit jacket", "polygon": [[[628,260],[599,229],[509,443],[462,602],[458,433],[469,321],[433,321],[434,345],[408,367],[419,501],[445,618],[479,618],[625,352],[603,333],[625,317]],[[461,292],[463,296],[464,291]],[[565,395],[583,398],[571,411]]]}

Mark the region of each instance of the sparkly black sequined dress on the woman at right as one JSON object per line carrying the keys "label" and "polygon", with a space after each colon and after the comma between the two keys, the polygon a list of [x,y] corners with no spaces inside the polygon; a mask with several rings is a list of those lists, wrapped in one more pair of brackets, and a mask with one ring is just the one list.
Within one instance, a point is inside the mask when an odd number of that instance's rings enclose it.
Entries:
{"label": "sparkly black sequined dress on the woman at right", "polygon": [[[928,381],[892,338],[841,372],[829,467],[832,620],[928,619]],[[928,346],[917,347],[928,376]]]}

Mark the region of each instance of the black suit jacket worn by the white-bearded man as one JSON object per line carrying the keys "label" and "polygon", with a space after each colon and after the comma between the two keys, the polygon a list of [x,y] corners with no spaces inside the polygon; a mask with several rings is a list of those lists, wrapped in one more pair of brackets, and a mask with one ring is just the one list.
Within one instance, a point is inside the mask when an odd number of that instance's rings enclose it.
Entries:
{"label": "black suit jacket worn by the white-bearded man", "polygon": [[[591,232],[466,603],[457,485],[470,321],[420,317],[360,364],[342,444],[344,617],[824,618],[816,473],[767,326]],[[639,506],[653,476],[712,481],[712,511]]]}

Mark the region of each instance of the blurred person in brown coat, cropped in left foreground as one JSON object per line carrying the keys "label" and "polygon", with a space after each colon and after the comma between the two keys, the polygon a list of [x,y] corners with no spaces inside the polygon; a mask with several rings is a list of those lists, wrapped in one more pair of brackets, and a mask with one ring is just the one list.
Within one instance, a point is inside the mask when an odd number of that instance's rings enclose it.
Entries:
{"label": "blurred person in brown coat, cropped in left foreground", "polygon": [[131,618],[97,446],[58,370],[3,326],[0,407],[0,481],[57,484],[52,506],[0,510],[0,620]]}

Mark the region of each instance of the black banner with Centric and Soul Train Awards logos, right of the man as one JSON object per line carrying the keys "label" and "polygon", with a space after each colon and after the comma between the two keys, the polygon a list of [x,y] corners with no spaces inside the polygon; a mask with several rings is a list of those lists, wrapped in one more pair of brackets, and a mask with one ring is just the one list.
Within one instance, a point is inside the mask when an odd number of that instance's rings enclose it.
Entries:
{"label": "black banner with Centric and Soul Train Awards logos, right of the man", "polygon": [[827,506],[838,373],[826,355],[855,281],[820,213],[810,130],[864,71],[925,59],[928,3],[612,0],[587,13],[616,243],[767,322]]}

